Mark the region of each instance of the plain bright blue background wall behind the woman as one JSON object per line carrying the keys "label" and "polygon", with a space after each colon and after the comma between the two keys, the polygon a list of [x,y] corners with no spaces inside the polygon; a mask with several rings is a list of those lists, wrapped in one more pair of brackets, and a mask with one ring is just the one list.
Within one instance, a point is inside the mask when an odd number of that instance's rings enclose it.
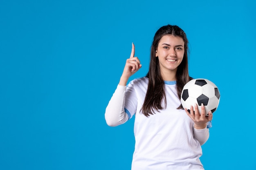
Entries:
{"label": "plain bright blue background wall behind the woman", "polygon": [[155,31],[187,34],[189,71],[221,93],[206,170],[256,170],[256,1],[1,0],[0,169],[129,170],[133,121],[108,127],[105,108],[131,43],[148,70]]}

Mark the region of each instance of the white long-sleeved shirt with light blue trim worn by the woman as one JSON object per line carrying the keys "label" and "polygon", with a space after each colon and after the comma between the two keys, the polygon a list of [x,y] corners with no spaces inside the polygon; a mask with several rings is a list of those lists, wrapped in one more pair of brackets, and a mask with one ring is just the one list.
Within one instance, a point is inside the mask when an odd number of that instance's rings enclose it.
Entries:
{"label": "white long-sleeved shirt with light blue trim worn by the woman", "polygon": [[165,82],[166,108],[146,117],[140,113],[148,78],[117,86],[106,108],[109,126],[124,124],[135,116],[135,150],[132,170],[203,170],[201,145],[209,138],[209,129],[195,129],[182,109],[176,82]]}

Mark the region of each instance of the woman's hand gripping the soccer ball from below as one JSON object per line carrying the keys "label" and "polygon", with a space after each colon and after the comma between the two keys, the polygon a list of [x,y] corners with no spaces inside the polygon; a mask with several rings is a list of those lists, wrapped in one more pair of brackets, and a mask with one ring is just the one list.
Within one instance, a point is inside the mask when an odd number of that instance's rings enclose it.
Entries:
{"label": "woman's hand gripping the soccer ball from below", "polygon": [[184,108],[186,114],[194,121],[196,129],[203,129],[207,126],[207,122],[212,120],[213,114],[209,111],[208,116],[205,116],[205,108],[204,105],[201,105],[201,115],[198,110],[198,105],[195,104],[195,111],[193,106],[190,106],[190,113],[189,111]]}

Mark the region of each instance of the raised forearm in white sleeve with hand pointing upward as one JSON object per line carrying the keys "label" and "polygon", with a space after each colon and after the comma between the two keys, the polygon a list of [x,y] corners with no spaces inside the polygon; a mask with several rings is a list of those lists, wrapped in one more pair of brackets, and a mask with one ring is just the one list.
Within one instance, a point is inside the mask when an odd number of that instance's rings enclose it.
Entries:
{"label": "raised forearm in white sleeve with hand pointing upward", "polygon": [[119,84],[106,108],[105,119],[108,126],[118,126],[120,124],[124,124],[129,119],[124,110],[126,84],[129,77],[141,68],[140,61],[138,57],[134,57],[134,54],[135,46],[132,43],[132,52],[130,58],[126,60],[126,65],[121,75]]}

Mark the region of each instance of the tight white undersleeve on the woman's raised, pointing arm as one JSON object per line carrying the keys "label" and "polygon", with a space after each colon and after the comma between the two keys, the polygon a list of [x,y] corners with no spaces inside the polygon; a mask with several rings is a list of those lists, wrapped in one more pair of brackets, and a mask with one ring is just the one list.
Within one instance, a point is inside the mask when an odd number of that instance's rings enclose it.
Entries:
{"label": "tight white undersleeve on the woman's raised, pointing arm", "polygon": [[108,126],[118,126],[128,121],[129,117],[124,109],[125,93],[126,86],[117,85],[115,93],[106,107],[105,120]]}

